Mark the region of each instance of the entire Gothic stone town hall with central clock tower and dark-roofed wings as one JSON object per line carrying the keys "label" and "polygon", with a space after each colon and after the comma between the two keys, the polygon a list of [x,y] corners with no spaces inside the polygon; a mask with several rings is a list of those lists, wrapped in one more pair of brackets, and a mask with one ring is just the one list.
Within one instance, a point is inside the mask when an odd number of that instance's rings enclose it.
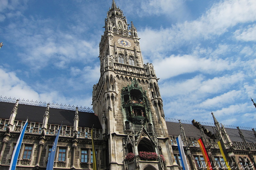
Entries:
{"label": "entire Gothic stone town hall with central clock tower and dark-roofed wings", "polygon": [[[0,166],[9,169],[27,117],[17,170],[46,169],[62,122],[54,169],[92,169],[92,137],[100,170],[181,170],[176,137],[181,134],[191,170],[204,169],[202,138],[212,169],[256,169],[254,129],[165,119],[152,64],[144,64],[137,30],[113,0],[100,41],[100,79],[93,86],[93,111],[86,108],[1,98]],[[254,102],[253,102],[254,103]],[[95,133],[91,134],[94,125]]]}

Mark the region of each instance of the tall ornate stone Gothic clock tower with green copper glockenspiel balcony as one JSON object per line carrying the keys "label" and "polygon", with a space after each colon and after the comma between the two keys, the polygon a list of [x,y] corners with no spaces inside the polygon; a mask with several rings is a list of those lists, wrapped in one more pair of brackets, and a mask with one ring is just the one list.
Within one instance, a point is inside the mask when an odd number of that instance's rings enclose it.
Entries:
{"label": "tall ornate stone Gothic clock tower with green copper glockenspiel balcony", "polygon": [[154,67],[143,63],[137,29],[114,0],[104,28],[100,80],[92,92],[105,139],[100,169],[178,169]]}

